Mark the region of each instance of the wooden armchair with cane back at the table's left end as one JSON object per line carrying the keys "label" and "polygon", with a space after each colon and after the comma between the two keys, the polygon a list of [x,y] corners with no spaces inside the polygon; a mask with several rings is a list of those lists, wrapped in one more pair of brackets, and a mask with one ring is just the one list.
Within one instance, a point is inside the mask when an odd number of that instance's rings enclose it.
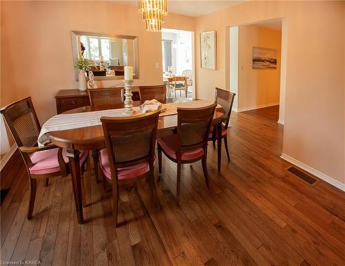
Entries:
{"label": "wooden armchair with cane back at the table's left end", "polygon": [[[6,120],[14,141],[19,147],[28,172],[30,180],[28,220],[30,220],[36,198],[37,180],[46,179],[46,185],[48,185],[48,178],[68,175],[66,149],[53,144],[37,146],[41,126],[36,111],[34,111],[31,97],[26,97],[1,108],[0,113]],[[81,151],[80,158],[83,170],[88,152]]]}

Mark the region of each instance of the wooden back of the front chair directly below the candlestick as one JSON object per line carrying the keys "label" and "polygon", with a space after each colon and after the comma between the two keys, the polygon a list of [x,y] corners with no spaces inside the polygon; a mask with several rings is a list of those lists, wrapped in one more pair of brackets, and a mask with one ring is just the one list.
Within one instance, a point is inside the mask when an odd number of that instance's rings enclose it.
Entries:
{"label": "wooden back of the front chair directly below the candlestick", "polygon": [[153,169],[159,113],[101,117],[112,180],[117,180],[122,167],[148,162]]}

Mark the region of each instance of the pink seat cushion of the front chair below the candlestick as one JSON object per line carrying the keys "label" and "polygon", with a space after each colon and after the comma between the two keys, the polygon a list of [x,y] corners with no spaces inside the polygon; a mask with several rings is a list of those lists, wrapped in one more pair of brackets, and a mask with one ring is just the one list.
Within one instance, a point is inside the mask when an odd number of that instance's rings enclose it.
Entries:
{"label": "pink seat cushion of the front chair below the candlestick", "polygon": [[[111,179],[110,163],[108,159],[108,153],[106,149],[99,152],[99,164],[103,175]],[[117,169],[117,178],[119,180],[125,180],[130,178],[137,178],[140,175],[144,175],[150,171],[150,165],[148,162],[142,162],[141,164],[133,165],[132,167],[124,167]]]}

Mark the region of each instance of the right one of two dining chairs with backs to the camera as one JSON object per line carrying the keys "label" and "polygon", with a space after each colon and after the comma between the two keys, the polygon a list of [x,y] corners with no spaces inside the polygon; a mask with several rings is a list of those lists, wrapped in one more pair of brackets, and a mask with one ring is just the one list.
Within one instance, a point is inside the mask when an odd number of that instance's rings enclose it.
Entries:
{"label": "right one of two dining chairs with backs to the camera", "polygon": [[206,185],[207,142],[210,126],[217,104],[202,108],[177,108],[177,134],[157,138],[159,173],[161,173],[161,153],[177,163],[177,201],[181,183],[181,164],[202,161]]}

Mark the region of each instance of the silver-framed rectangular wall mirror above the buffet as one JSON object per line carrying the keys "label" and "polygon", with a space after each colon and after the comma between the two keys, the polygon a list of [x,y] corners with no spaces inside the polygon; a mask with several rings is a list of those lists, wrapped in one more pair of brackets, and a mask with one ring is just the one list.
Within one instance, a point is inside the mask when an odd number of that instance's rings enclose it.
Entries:
{"label": "silver-framed rectangular wall mirror above the buffet", "polygon": [[[133,67],[133,79],[139,78],[136,36],[72,31],[72,49],[74,65],[82,54],[95,80],[123,79],[125,66]],[[77,68],[75,77],[78,80]]]}

